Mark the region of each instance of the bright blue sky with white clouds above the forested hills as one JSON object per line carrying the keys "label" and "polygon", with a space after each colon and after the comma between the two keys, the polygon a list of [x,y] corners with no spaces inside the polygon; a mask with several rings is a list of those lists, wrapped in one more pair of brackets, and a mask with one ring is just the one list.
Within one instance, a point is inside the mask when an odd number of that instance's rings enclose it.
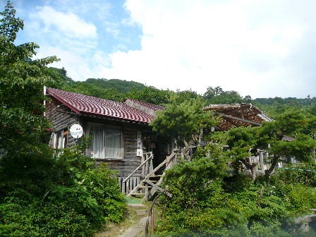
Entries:
{"label": "bright blue sky with white clouds above the forested hills", "polygon": [[[315,0],[11,0],[16,44],[73,80],[162,90],[316,97]],[[0,0],[0,11],[5,0]]]}

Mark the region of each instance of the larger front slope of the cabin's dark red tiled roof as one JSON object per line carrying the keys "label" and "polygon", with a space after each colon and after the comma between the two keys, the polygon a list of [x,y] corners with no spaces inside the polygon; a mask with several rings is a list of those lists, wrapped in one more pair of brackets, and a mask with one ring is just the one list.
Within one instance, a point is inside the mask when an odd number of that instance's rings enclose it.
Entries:
{"label": "larger front slope of the cabin's dark red tiled roof", "polygon": [[47,88],[47,93],[75,111],[77,114],[103,116],[109,119],[150,123],[154,116],[134,109],[127,104],[107,99]]}

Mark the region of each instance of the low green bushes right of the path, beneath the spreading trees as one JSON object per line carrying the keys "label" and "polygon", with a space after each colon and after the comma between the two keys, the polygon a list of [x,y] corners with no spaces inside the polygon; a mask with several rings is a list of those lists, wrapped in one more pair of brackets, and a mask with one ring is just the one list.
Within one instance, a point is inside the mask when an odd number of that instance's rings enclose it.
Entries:
{"label": "low green bushes right of the path, beneath the spreading trees", "polygon": [[164,185],[173,196],[161,197],[157,230],[162,236],[309,236],[292,220],[315,204],[314,188],[272,183],[222,176],[207,158],[181,162],[166,171]]}

